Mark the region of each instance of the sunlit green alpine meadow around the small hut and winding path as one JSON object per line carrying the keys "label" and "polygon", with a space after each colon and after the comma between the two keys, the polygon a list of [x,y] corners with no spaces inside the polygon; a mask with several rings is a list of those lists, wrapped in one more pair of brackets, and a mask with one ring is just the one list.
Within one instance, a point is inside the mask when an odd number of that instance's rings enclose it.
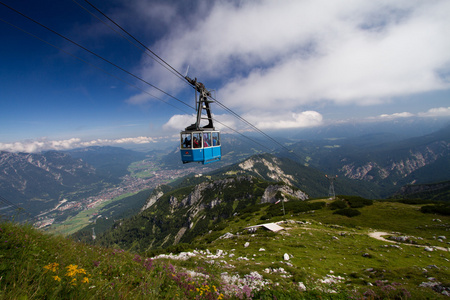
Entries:
{"label": "sunlit green alpine meadow around the small hut and winding path", "polygon": [[[400,298],[403,299],[409,294],[413,295],[413,299],[440,297],[431,289],[419,287],[428,278],[442,282],[449,289],[449,252],[426,252],[423,247],[394,245],[368,236],[374,230],[395,231],[416,236],[424,245],[447,247],[446,241],[441,242],[436,237],[448,237],[449,217],[423,214],[420,212],[420,205],[402,203],[375,202],[359,210],[361,215],[353,218],[335,215],[325,208],[265,221],[292,220],[293,222],[283,225],[287,230],[281,234],[243,232],[242,228],[261,223],[259,218],[265,214],[261,210],[227,220],[228,226],[222,233],[228,231],[240,234],[230,240],[218,240],[209,249],[212,252],[217,249],[234,249],[235,257],[248,258],[251,263],[247,260],[228,261],[242,274],[250,269],[264,272],[267,268],[281,266],[297,280],[315,286],[315,283],[330,275],[331,271],[332,274],[345,278],[339,290],[348,291],[351,287],[350,290],[362,291],[359,294],[361,297],[365,291],[387,298],[400,297],[402,293],[404,295]],[[437,218],[441,222],[436,222]],[[299,221],[308,221],[309,224],[296,223]],[[208,236],[203,238],[207,240]],[[246,242],[249,243],[248,247],[244,247]],[[265,251],[259,251],[261,248]],[[284,253],[292,256],[289,260],[292,266],[284,261]],[[277,275],[268,274],[266,277],[273,279]],[[393,294],[383,294],[387,290],[391,290]],[[358,293],[354,292],[353,295]]]}

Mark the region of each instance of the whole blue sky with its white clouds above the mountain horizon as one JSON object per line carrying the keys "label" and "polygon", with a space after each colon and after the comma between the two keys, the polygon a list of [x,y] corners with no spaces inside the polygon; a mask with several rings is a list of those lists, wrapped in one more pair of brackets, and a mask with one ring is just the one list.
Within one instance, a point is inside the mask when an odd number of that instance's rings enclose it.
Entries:
{"label": "whole blue sky with its white clouds above the mountain horizon", "polygon": [[[95,18],[107,22],[87,2],[1,2],[193,105],[192,88]],[[91,3],[268,132],[450,119],[449,1]],[[0,34],[0,150],[159,143],[194,122],[189,107],[4,5]],[[213,112],[248,130],[214,104]]]}

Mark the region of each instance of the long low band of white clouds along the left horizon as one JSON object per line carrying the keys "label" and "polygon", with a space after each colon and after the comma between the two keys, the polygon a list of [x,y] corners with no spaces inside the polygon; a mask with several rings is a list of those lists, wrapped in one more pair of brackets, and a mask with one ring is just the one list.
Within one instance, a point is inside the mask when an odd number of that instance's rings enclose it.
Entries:
{"label": "long low band of white clouds along the left horizon", "polygon": [[59,151],[90,146],[148,144],[156,142],[157,140],[155,138],[145,136],[135,138],[120,138],[120,139],[96,139],[91,141],[82,141],[79,138],[54,140],[54,141],[43,139],[43,140],[28,140],[14,143],[0,143],[0,150],[8,152],[35,153],[47,150]]}

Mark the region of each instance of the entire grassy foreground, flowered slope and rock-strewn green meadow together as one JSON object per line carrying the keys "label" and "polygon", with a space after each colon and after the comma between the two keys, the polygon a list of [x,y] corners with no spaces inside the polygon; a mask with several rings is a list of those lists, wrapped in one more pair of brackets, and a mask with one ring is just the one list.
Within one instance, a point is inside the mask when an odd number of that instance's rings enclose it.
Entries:
{"label": "entire grassy foreground, flowered slope and rock-strewn green meadow together", "polygon": [[[3,222],[0,298],[447,298],[421,284],[436,282],[441,292],[450,289],[449,252],[395,246],[368,232],[399,231],[443,246],[434,237],[448,236],[450,217],[423,214],[418,205],[375,202],[353,218],[324,208],[267,221],[288,219],[280,233],[243,230],[260,223],[268,208],[225,220],[221,231],[190,245],[198,250],[187,260],[89,246]],[[207,242],[210,235],[226,232],[234,236]]]}

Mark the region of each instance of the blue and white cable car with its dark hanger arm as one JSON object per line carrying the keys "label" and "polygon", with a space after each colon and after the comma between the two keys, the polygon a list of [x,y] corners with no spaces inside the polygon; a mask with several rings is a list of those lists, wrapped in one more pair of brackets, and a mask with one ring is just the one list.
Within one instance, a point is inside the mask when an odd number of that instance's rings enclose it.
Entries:
{"label": "blue and white cable car with its dark hanger arm", "polygon": [[[197,103],[197,122],[186,127],[180,133],[181,161],[183,164],[190,162],[209,164],[219,161],[222,157],[220,131],[215,130],[213,125],[209,108],[209,103],[213,101],[208,99],[211,97],[211,93],[197,79],[192,80],[187,76],[185,78],[199,92],[199,101]],[[206,111],[206,117],[202,116],[203,110]],[[201,127],[201,120],[208,120],[208,124]]]}

